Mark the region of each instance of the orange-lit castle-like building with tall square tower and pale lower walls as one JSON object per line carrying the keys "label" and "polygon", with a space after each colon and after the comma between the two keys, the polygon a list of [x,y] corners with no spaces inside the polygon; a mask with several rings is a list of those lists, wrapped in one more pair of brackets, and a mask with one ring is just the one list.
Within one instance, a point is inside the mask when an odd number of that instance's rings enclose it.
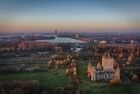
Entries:
{"label": "orange-lit castle-like building with tall square tower and pale lower walls", "polygon": [[110,81],[114,78],[120,79],[120,69],[115,59],[111,57],[109,53],[104,53],[102,56],[102,62],[98,63],[96,67],[89,63],[87,74],[91,81]]}

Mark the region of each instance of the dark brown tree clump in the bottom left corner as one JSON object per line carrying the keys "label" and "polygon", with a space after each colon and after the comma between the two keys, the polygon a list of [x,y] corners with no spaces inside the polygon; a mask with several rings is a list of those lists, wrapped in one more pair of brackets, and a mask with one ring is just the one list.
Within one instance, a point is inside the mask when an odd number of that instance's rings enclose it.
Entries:
{"label": "dark brown tree clump in the bottom left corner", "polygon": [[37,94],[38,85],[36,80],[0,81],[0,94]]}

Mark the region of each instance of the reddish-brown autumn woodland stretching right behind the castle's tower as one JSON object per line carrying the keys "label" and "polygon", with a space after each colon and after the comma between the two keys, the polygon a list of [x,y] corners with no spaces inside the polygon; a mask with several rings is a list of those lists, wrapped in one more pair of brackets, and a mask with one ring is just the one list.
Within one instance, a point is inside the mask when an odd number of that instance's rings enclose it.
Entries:
{"label": "reddish-brown autumn woodland stretching right behind the castle's tower", "polygon": [[99,60],[105,52],[111,53],[116,60],[131,63],[134,58],[140,57],[138,45],[98,45],[88,46],[80,51],[80,57],[86,60]]}

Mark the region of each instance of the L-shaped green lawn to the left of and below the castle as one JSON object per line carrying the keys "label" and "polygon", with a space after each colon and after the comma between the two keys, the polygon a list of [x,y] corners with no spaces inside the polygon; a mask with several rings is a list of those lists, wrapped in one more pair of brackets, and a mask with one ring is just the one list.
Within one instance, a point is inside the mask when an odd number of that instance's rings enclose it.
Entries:
{"label": "L-shaped green lawn to the left of and below the castle", "polygon": [[140,94],[140,83],[111,86],[105,82],[91,82],[86,76],[86,68],[87,64],[78,66],[82,94]]}

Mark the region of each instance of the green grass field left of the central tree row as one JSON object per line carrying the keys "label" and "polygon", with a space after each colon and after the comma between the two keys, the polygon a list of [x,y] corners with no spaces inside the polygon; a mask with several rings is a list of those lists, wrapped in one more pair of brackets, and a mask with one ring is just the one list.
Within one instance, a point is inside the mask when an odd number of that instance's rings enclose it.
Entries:
{"label": "green grass field left of the central tree row", "polygon": [[47,72],[18,72],[18,73],[0,73],[0,80],[38,80],[39,91],[49,87],[63,87],[69,85],[69,77],[65,75],[64,70],[49,70]]}

